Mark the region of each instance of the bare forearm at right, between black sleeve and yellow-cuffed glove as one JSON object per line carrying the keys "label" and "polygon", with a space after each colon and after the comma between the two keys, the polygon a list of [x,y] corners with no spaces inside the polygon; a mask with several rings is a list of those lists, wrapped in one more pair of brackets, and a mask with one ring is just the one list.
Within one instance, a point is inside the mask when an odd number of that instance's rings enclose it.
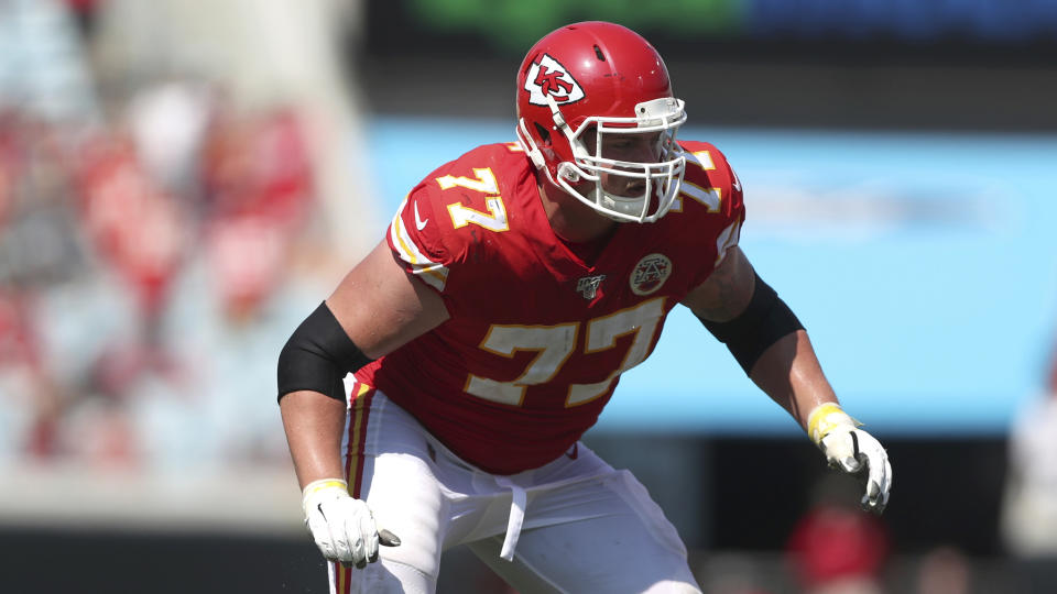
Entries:
{"label": "bare forearm at right, between black sleeve and yellow-cuffed glove", "polygon": [[837,402],[804,330],[787,334],[767,348],[749,377],[805,430],[807,417],[815,407]]}

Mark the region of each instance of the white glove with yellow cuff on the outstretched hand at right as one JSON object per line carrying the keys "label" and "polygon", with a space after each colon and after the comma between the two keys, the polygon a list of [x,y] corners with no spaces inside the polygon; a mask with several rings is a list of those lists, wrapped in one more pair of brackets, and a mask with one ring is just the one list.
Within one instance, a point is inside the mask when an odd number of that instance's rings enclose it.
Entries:
{"label": "white glove with yellow cuff on the outstretched hand at right", "polygon": [[808,433],[829,465],[849,474],[867,471],[867,492],[862,507],[880,514],[889,504],[892,488],[892,464],[881,442],[858,428],[836,403],[818,406],[808,417]]}

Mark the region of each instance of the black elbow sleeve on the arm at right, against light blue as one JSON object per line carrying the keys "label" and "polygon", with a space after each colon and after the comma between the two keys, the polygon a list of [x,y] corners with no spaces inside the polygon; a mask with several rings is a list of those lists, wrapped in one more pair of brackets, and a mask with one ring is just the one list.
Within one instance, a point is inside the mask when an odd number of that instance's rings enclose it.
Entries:
{"label": "black elbow sleeve on the arm at right, against light blue", "polygon": [[749,307],[740,316],[726,322],[713,322],[700,317],[698,319],[713,337],[730,349],[745,375],[752,371],[752,366],[767,346],[786,334],[804,329],[789,306],[785,305],[759,274]]}

